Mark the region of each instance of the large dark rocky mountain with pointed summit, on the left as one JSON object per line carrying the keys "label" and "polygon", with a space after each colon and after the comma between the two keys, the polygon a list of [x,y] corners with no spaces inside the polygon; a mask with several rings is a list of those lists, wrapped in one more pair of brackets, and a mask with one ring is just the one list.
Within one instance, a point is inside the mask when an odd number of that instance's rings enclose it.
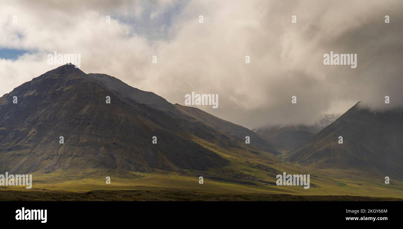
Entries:
{"label": "large dark rocky mountain with pointed summit, on the left", "polygon": [[[106,86],[94,78],[64,65],[1,97],[0,171],[206,170],[229,164],[192,141],[192,135],[166,113],[125,97],[113,82]],[[152,101],[164,101],[146,94]],[[14,96],[18,103],[13,103]],[[157,144],[152,144],[153,136]]]}

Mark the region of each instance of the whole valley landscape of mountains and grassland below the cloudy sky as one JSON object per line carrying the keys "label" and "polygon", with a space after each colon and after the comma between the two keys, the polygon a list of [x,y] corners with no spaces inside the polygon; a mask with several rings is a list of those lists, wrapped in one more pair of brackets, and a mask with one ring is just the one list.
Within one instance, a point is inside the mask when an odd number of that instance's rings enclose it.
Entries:
{"label": "whole valley landscape of mountains and grassland below the cloudy sky", "polygon": [[[319,127],[253,132],[64,65],[0,98],[0,174],[32,175],[31,189],[0,186],[0,199],[401,200],[401,120],[356,105]],[[278,186],[284,173],[310,184]]]}

